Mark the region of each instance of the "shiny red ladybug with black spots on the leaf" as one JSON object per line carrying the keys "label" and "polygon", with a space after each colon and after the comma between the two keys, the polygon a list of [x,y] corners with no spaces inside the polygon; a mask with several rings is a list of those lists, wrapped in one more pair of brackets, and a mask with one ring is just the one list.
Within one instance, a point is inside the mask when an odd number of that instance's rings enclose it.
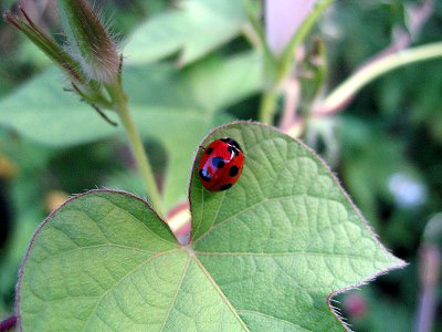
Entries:
{"label": "shiny red ladybug with black spots on the leaf", "polygon": [[244,154],[236,141],[213,141],[203,152],[198,167],[202,186],[209,191],[232,187],[241,175]]}

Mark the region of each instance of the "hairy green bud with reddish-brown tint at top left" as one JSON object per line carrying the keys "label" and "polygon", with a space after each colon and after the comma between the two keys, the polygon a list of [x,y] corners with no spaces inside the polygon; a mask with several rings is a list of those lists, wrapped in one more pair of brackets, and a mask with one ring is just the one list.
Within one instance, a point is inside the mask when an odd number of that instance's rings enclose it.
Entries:
{"label": "hairy green bud with reddish-brown tint at top left", "polygon": [[99,18],[84,0],[60,0],[59,8],[69,50],[83,72],[92,80],[116,82],[117,48]]}

